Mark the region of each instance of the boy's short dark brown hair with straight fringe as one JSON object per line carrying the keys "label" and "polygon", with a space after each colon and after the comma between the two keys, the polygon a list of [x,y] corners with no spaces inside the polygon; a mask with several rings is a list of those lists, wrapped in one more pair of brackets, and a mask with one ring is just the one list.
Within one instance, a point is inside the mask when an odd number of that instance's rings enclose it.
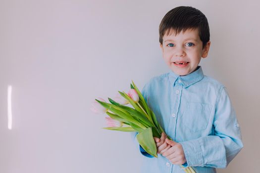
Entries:
{"label": "boy's short dark brown hair with straight fringe", "polygon": [[178,6],[171,9],[162,18],[159,26],[159,42],[162,44],[164,34],[169,35],[174,32],[175,35],[187,29],[197,29],[203,48],[209,41],[209,26],[206,16],[198,9],[191,6]]}

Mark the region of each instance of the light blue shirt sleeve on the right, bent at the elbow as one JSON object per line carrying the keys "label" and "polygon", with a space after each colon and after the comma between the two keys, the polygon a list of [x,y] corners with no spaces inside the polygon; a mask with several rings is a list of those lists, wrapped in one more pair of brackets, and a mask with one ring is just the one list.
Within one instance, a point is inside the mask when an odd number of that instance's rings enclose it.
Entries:
{"label": "light blue shirt sleeve on the right, bent at the elbow", "polygon": [[214,135],[180,142],[186,166],[226,168],[243,148],[240,126],[225,87],[219,89],[212,128]]}

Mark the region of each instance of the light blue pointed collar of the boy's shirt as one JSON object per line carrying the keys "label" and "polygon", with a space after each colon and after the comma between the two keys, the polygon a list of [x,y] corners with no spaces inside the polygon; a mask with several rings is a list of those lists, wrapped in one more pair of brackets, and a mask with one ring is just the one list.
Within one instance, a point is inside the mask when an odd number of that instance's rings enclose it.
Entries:
{"label": "light blue pointed collar of the boy's shirt", "polygon": [[194,72],[186,75],[186,76],[179,76],[176,75],[174,72],[169,72],[169,81],[172,86],[175,86],[177,84],[183,85],[183,87],[189,87],[199,81],[201,81],[204,78],[204,73],[202,71],[202,67],[198,66],[197,70]]}

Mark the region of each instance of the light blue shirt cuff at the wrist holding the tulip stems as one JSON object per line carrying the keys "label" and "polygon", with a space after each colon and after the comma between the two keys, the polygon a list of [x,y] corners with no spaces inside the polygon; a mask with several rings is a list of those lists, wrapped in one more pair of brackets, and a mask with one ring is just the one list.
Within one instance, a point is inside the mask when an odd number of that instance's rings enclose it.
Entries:
{"label": "light blue shirt cuff at the wrist holding the tulip stems", "polygon": [[186,158],[186,163],[182,166],[184,167],[200,167],[203,166],[203,151],[199,140],[189,140],[180,142],[182,145],[184,155]]}

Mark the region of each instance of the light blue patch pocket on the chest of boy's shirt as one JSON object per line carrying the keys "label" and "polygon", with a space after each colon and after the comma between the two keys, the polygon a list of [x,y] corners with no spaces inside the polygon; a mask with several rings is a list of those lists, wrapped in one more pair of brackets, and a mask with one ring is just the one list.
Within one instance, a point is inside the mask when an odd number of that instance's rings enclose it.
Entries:
{"label": "light blue patch pocket on the chest of boy's shirt", "polygon": [[205,130],[208,126],[208,119],[212,106],[207,103],[188,102],[183,113],[185,128],[191,132]]}

